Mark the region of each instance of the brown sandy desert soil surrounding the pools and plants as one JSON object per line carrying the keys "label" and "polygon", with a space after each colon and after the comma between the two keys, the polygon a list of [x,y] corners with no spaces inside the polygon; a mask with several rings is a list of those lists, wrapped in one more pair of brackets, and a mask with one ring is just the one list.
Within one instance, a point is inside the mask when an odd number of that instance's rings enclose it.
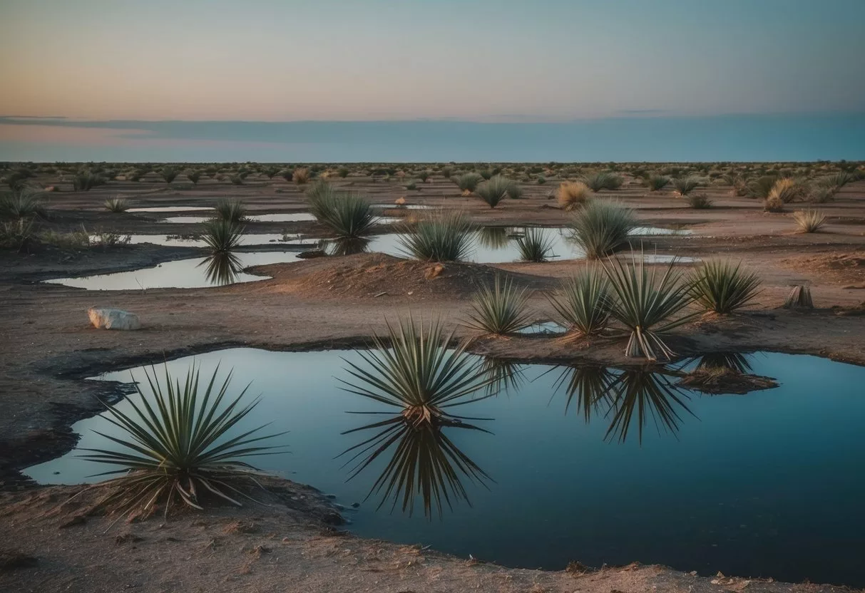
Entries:
{"label": "brown sandy desert soil surrounding the pools and plants", "polygon": [[[362,177],[337,184],[351,184],[350,188],[382,203],[405,195],[409,203],[463,209],[477,222],[489,224],[560,225],[567,220],[548,197],[555,185],[552,180],[544,186],[526,186],[526,199],[508,201],[495,210],[477,198],[458,196],[456,187],[440,178],[412,192]],[[106,213],[103,201],[117,194],[136,207],[207,206],[227,196],[244,199],[252,214],[304,207],[298,188],[276,179],[239,187],[202,182],[183,190],[164,183],[112,182],[86,193],[51,194],[51,224],[72,229],[83,223],[88,229],[122,233],[195,232],[195,226],[160,222],[159,214]],[[635,207],[647,224],[693,231],[690,236],[646,239],[647,250],[741,259],[763,278],[759,303],[745,312],[707,316],[677,329],[670,343],[679,354],[767,349],[865,364],[865,182],[847,186],[836,201],[821,205],[830,224],[825,232],[809,235],[793,232],[789,213],[764,214],[757,201],[733,197],[726,188],[709,191],[714,200],[710,210],[692,210],[672,194],[645,194],[644,188],[633,185],[609,194]],[[323,233],[313,223],[303,222],[252,223],[247,232],[284,229],[316,237]],[[49,507],[56,507],[67,489],[28,490],[32,485],[22,481],[17,470],[74,446],[69,426],[98,410],[93,396],[99,387],[87,385],[85,377],[109,367],[234,345],[274,349],[362,345],[372,332],[384,328],[386,318],[409,310],[458,319],[467,310],[472,287],[494,271],[485,265],[445,265],[431,274],[429,265],[366,254],[264,266],[261,271],[272,279],[202,290],[88,293],[38,284],[48,277],[119,271],[197,253],[155,245],[86,253],[0,252],[0,335],[5,342],[0,348],[0,480],[10,491],[3,501],[0,548],[38,558],[34,566],[0,571],[0,589],[7,583],[8,590],[42,591],[119,590],[125,585],[147,591],[684,591],[745,586],[780,590],[772,583],[745,585],[726,578],[713,584],[657,567],[575,577],[467,564],[429,551],[324,534],[314,513],[307,515],[297,508],[272,514],[270,509],[268,513],[221,509],[203,517],[170,520],[164,526],[159,520],[123,526],[125,532],[144,538],[133,543],[134,554],[129,552],[133,547],[129,541],[116,544],[115,532],[103,534],[104,518],[58,529],[62,517],[50,513]],[[496,267],[538,291],[532,306],[537,319],[544,320],[552,311],[541,291],[554,288],[575,265],[579,264],[556,261]],[[791,284],[803,283],[811,285],[817,309],[807,313],[779,309]],[[93,305],[130,309],[145,327],[135,333],[88,327],[86,309]],[[624,342],[616,338],[574,342],[541,336],[476,340],[472,345],[479,354],[522,360],[586,358],[611,363],[626,362],[623,349]],[[23,491],[12,492],[18,489]],[[228,523],[235,520],[252,520],[260,526],[254,533],[225,534]],[[216,538],[224,545],[211,545]],[[268,552],[256,552],[258,545]],[[161,577],[154,580],[149,575],[157,563]],[[190,565],[194,571],[189,571]],[[794,590],[814,588],[802,585]]]}

